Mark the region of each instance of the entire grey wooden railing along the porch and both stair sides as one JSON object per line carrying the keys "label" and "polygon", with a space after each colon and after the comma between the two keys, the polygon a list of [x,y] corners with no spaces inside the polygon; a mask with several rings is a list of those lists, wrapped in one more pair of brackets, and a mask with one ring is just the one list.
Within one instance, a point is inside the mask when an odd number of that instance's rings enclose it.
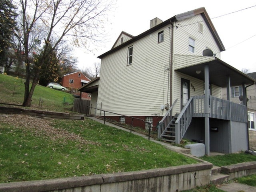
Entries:
{"label": "entire grey wooden railing along the porch and both stair sides", "polygon": [[[175,100],[176,103],[177,100]],[[174,104],[175,104],[174,103]],[[172,107],[174,106],[172,105]],[[168,110],[164,118],[159,123],[158,127],[158,138],[166,130],[170,121],[172,120],[172,107]],[[237,104],[230,102],[228,100],[223,100],[214,96],[209,97],[209,117],[222,119],[222,120],[232,120],[236,122],[247,122],[247,108],[242,104]],[[186,133],[193,117],[205,117],[204,112],[204,95],[193,96],[188,100],[184,108],[181,110],[180,114],[175,121],[175,142],[180,144],[180,140]]]}

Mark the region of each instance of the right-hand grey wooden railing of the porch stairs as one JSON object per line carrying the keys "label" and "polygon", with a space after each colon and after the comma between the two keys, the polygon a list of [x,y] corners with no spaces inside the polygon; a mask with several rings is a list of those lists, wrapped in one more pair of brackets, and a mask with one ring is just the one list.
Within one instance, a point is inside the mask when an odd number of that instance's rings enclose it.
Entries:
{"label": "right-hand grey wooden railing of the porch stairs", "polygon": [[186,133],[188,126],[192,121],[193,115],[193,98],[191,97],[181,110],[175,121],[175,143],[180,144],[180,140]]}

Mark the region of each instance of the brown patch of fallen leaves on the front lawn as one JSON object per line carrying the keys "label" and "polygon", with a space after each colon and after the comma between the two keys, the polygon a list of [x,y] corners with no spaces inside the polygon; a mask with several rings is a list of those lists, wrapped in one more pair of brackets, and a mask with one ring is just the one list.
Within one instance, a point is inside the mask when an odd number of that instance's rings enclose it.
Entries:
{"label": "brown patch of fallen leaves on the front lawn", "polygon": [[27,115],[0,115],[0,122],[12,125],[14,128],[25,128],[26,131],[30,131],[35,136],[44,136],[50,140],[67,140],[76,141],[79,145],[97,145],[99,142],[85,140],[78,134],[62,130],[60,128],[54,128],[53,119],[34,118]]}

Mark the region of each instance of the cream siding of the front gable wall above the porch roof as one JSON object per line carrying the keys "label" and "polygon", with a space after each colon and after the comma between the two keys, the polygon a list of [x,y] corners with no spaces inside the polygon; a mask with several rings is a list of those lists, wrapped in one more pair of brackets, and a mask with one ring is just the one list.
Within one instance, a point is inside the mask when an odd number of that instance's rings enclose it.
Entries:
{"label": "cream siding of the front gable wall above the porch roof", "polygon": [[[215,39],[212,36],[208,27],[204,27],[204,33],[198,31],[198,21],[202,21],[204,26],[206,22],[204,22],[204,18],[201,15],[196,15],[192,18],[181,20],[176,22],[175,26],[179,26],[178,28],[174,28],[175,34],[175,54],[180,55],[198,55],[202,56],[203,50],[206,47],[212,48],[216,57],[220,58],[220,49]],[[191,37],[196,40],[196,49],[195,53],[192,53],[188,50],[188,38]]]}

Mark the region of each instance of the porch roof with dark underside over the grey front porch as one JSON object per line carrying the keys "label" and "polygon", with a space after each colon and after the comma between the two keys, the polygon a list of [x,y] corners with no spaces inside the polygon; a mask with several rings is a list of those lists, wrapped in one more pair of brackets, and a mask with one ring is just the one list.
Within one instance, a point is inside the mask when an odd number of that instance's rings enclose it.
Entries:
{"label": "porch roof with dark underside over the grey front porch", "polygon": [[[200,57],[198,57],[198,60]],[[196,63],[196,62],[194,62]],[[255,80],[241,72],[240,70],[230,66],[224,61],[213,57],[212,59],[206,59],[205,62],[202,60],[201,63],[196,63],[184,68],[175,69],[178,72],[198,78],[204,81],[204,66],[209,65],[209,83],[220,87],[227,86],[227,77],[230,76],[230,85],[239,86],[242,84],[253,84]],[[201,71],[199,74],[196,71]]]}

